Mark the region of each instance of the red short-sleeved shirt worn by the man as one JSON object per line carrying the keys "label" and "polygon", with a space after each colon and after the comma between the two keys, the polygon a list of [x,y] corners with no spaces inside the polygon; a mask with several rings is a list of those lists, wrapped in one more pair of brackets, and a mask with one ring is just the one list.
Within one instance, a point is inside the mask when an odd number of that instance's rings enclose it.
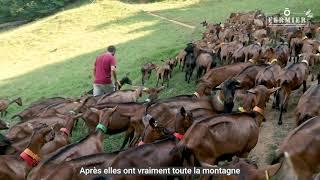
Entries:
{"label": "red short-sleeved shirt worn by the man", "polygon": [[111,53],[104,53],[97,57],[94,64],[94,83],[111,84],[111,66],[116,66],[116,59]]}

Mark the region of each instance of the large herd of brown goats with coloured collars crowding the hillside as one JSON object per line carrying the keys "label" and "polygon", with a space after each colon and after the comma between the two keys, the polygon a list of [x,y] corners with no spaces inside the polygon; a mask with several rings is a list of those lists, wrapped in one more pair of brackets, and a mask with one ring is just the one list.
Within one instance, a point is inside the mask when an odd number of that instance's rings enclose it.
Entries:
{"label": "large herd of brown goats with coloured collars crowding the hillside", "polygon": [[[320,172],[320,33],[319,23],[304,27],[267,27],[257,10],[232,13],[225,23],[203,26],[201,40],[187,44],[162,65],[142,66],[142,84],[156,71],[157,87],[119,90],[94,97],[52,97],[38,100],[12,118],[20,122],[0,138],[0,179],[167,179],[162,176],[80,174],[81,168],[216,167],[240,168],[240,176],[201,176],[201,179],[309,180]],[[293,61],[293,62],[292,62]],[[290,62],[290,63],[288,63]],[[173,69],[194,69],[192,95],[158,99]],[[318,84],[307,86],[318,78]],[[121,84],[131,84],[128,77]],[[273,96],[278,124],[292,91],[303,87],[295,108],[296,128],[279,146],[273,162],[257,167],[246,159],[256,146]],[[148,101],[137,102],[143,93]],[[0,100],[1,117],[20,98]],[[70,143],[81,118],[88,135]],[[104,152],[108,135],[124,132],[119,151]],[[264,138],[264,137],[260,137]],[[126,145],[128,144],[128,148]],[[267,153],[267,152],[265,152]],[[225,164],[219,162],[227,160]],[[178,177],[190,178],[190,177]]]}

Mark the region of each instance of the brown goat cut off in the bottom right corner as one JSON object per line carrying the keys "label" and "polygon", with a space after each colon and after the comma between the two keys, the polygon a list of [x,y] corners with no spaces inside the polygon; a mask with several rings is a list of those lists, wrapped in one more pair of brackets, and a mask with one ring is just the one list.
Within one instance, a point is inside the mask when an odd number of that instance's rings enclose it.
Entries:
{"label": "brown goat cut off in the bottom right corner", "polygon": [[[320,167],[320,117],[313,117],[292,130],[281,143],[278,155],[273,163],[283,157],[289,161],[295,179],[309,180],[312,175],[319,173]],[[287,176],[288,173],[282,174]],[[292,179],[284,178],[281,179]]]}

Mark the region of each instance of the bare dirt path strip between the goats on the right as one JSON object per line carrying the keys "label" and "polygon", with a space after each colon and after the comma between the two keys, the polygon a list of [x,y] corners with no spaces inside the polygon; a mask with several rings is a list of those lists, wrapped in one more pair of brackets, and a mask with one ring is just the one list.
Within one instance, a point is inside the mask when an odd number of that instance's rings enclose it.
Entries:
{"label": "bare dirt path strip between the goats on the right", "polygon": [[[315,84],[315,82],[312,84]],[[310,85],[309,82],[308,87]],[[295,128],[294,109],[302,94],[302,87],[292,93],[292,96],[289,99],[288,112],[283,114],[283,124],[281,126],[277,124],[279,111],[271,108],[273,96],[270,98],[266,110],[267,121],[262,123],[258,144],[249,155],[249,158],[256,159],[259,167],[263,167],[270,163],[274,151],[287,136],[288,132]]]}

